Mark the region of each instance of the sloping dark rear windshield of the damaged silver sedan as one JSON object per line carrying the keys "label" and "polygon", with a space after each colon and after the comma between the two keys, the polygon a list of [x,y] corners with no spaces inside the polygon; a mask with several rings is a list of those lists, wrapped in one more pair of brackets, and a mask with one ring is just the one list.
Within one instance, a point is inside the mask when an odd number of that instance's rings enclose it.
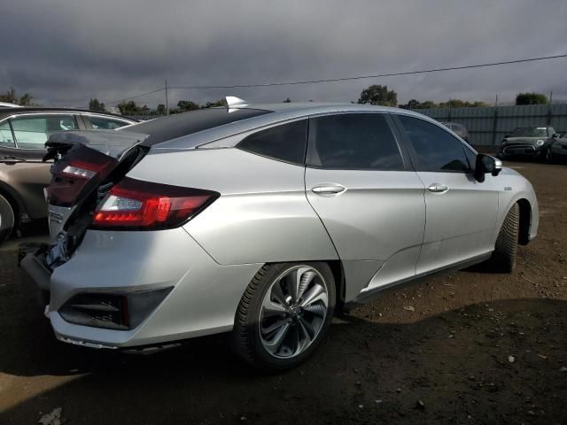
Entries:
{"label": "sloping dark rear windshield of the damaged silver sedan", "polygon": [[[230,111],[230,112],[229,112]],[[183,135],[192,135],[209,128],[219,127],[231,122],[258,117],[271,111],[260,109],[231,109],[209,108],[199,111],[176,113],[168,117],[145,121],[134,126],[119,129],[117,131],[134,131],[149,135],[144,146],[152,146],[157,143],[166,142]]]}

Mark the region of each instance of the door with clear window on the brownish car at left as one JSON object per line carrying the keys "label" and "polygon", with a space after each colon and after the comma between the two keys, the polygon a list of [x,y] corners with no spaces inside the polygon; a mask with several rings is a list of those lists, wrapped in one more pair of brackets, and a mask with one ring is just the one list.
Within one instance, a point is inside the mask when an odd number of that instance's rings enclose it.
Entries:
{"label": "door with clear window on the brownish car at left", "polygon": [[[0,181],[16,192],[31,219],[47,215],[43,188],[50,183],[50,164],[44,163],[44,143],[57,131],[78,129],[73,113],[27,113],[3,122],[10,128],[12,146],[0,144]],[[3,133],[8,134],[5,130]]]}

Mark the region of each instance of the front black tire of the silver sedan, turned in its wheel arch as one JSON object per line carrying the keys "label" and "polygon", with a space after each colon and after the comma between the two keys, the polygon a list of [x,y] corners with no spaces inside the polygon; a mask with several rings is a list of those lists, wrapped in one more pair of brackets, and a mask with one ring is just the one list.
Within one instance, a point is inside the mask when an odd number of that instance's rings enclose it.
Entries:
{"label": "front black tire of the silver sedan, turned in its wheel arch", "polygon": [[493,267],[501,273],[511,273],[516,267],[519,228],[520,207],[514,204],[502,223],[491,259]]}

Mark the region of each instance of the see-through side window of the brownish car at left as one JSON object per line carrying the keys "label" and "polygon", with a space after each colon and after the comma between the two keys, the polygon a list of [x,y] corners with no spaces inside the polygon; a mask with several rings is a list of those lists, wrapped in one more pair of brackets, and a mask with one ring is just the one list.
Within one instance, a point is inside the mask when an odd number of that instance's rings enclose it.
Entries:
{"label": "see-through side window of the brownish car at left", "polygon": [[12,119],[12,129],[19,149],[44,149],[53,133],[76,130],[74,115],[35,115]]}

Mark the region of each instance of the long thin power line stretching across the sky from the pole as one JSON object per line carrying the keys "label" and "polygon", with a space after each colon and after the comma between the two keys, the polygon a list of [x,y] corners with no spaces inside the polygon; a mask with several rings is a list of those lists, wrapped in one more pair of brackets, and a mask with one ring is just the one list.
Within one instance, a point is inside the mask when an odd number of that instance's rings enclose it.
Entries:
{"label": "long thin power line stretching across the sky from the pole", "polygon": [[[254,88],[254,87],[273,87],[273,86],[296,86],[300,84],[316,84],[321,82],[338,82],[338,81],[355,81],[355,80],[366,80],[369,78],[383,78],[383,77],[395,77],[400,75],[416,75],[419,73],[439,73],[443,71],[459,71],[463,69],[474,69],[474,68],[485,68],[488,66],[502,66],[502,65],[511,65],[511,64],[521,64],[525,62],[536,62],[540,60],[548,60],[548,59],[557,59],[557,58],[567,58],[567,54],[562,55],[554,55],[554,56],[542,56],[539,58],[527,58],[527,59],[514,59],[514,60],[504,60],[500,62],[490,62],[485,64],[476,64],[476,65],[465,65],[465,66],[447,66],[443,68],[431,68],[431,69],[424,69],[421,71],[404,71],[399,73],[377,73],[372,75],[357,75],[353,77],[341,77],[341,78],[329,78],[329,79],[321,79],[321,80],[304,80],[304,81],[280,81],[280,82],[265,82],[259,84],[233,84],[233,85],[225,85],[225,86],[168,86],[168,89],[188,89],[188,90],[196,90],[196,89],[246,89],[246,88]],[[141,95],[136,95],[133,97],[125,97],[123,99],[109,102],[110,104],[117,104],[123,102],[125,100],[136,99],[137,97],[144,97],[147,95],[151,95],[153,93],[157,93],[161,90],[164,90],[165,87],[161,87],[159,89],[155,89],[149,91],[147,93],[143,93]]]}

